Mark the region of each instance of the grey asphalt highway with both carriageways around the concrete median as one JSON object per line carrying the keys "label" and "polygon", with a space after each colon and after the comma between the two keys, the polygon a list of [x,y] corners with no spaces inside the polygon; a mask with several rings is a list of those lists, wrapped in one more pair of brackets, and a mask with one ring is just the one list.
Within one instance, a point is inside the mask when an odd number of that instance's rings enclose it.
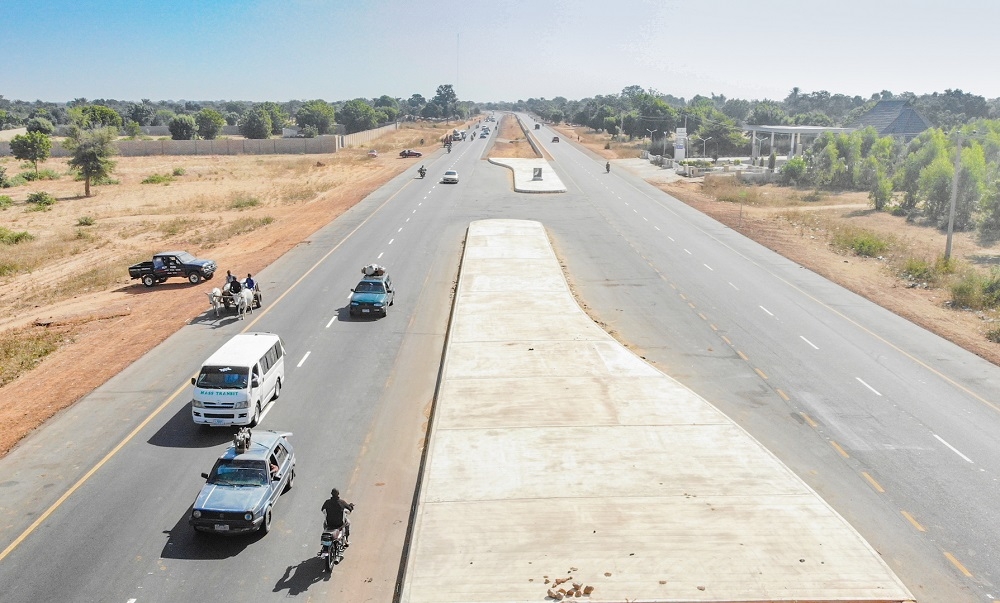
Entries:
{"label": "grey asphalt highway with both carriageways around the concrete median", "polygon": [[[262,310],[206,311],[0,461],[4,601],[390,601],[462,241],[483,218],[545,224],[595,320],[764,443],[918,600],[1000,597],[1000,370],[539,134],[567,193],[512,193],[482,160],[492,138],[401,160],[403,175],[258,275]],[[438,182],[449,168],[458,184]],[[371,262],[395,304],[351,320]],[[199,474],[232,431],[191,423],[188,380],[246,328],[288,351],[261,428],[293,432],[295,488],[265,537],[196,536]],[[327,576],[315,553],[334,486],[358,508]]]}

